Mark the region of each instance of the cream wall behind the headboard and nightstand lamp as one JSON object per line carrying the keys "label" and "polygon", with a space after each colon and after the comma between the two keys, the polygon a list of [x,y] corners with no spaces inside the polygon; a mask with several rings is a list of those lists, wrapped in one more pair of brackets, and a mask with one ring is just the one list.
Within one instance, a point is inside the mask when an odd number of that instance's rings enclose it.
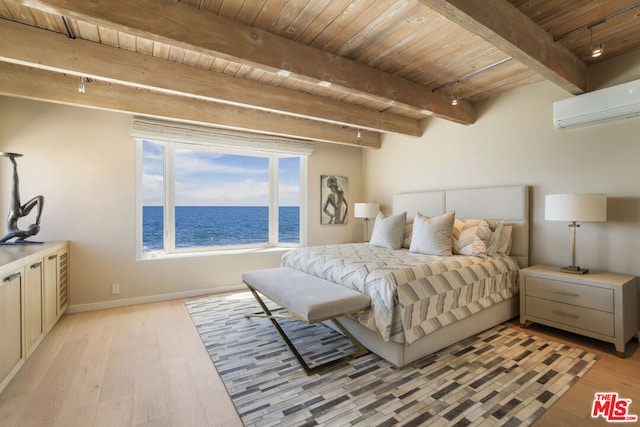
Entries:
{"label": "cream wall behind the headboard and nightstand lamp", "polygon": [[[640,79],[640,52],[592,73],[597,87]],[[389,213],[399,192],[530,185],[530,262],[562,266],[570,231],[544,221],[544,196],[606,193],[608,221],[581,225],[576,263],[640,276],[640,117],[555,129],[553,102],[570,96],[544,82],[479,105],[471,126],[433,119],[421,138],[386,135],[380,150],[364,152],[364,194]]]}

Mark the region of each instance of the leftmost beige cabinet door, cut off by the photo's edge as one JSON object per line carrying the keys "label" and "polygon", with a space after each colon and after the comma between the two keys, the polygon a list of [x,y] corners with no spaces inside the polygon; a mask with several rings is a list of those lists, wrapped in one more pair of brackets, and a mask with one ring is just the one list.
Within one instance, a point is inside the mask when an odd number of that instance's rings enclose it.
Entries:
{"label": "leftmost beige cabinet door, cut off by the photo's edge", "polygon": [[[22,360],[22,270],[0,282],[0,383]],[[1,390],[2,388],[0,388]]]}

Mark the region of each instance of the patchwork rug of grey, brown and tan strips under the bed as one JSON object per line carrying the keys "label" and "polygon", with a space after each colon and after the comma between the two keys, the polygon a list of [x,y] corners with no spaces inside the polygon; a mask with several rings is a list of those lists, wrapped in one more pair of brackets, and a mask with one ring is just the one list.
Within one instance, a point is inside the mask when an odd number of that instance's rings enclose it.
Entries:
{"label": "patchwork rug of grey, brown and tan strips under the bed", "polygon": [[[500,325],[402,369],[375,354],[306,376],[248,292],[185,301],[245,426],[529,425],[595,354]],[[350,351],[322,325],[283,321],[310,365]]]}

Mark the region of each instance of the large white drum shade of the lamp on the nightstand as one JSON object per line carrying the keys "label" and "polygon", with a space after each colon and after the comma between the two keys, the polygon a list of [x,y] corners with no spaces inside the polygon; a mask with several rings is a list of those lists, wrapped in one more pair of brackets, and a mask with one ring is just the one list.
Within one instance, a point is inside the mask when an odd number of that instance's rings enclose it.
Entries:
{"label": "large white drum shade of the lamp on the nightstand", "polygon": [[547,221],[605,222],[606,194],[548,194],[544,201]]}

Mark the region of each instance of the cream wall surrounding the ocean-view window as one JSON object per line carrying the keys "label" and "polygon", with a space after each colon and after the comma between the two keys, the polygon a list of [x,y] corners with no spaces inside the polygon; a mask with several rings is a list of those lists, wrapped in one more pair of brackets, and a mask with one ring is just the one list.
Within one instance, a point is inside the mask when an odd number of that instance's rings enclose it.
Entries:
{"label": "cream wall surrounding the ocean-view window", "polygon": [[[127,114],[0,97],[0,151],[24,154],[18,159],[21,199],[45,197],[36,237],[71,241],[72,309],[224,290],[239,286],[243,271],[279,265],[282,251],[136,261],[130,127]],[[0,158],[0,218],[8,213],[10,166]],[[356,220],[320,226],[319,212],[321,174],[348,176],[350,197],[359,198],[360,149],[318,143],[308,170],[309,244],[358,238]],[[5,231],[0,219],[0,234]],[[120,295],[111,295],[112,283],[120,284]]]}

